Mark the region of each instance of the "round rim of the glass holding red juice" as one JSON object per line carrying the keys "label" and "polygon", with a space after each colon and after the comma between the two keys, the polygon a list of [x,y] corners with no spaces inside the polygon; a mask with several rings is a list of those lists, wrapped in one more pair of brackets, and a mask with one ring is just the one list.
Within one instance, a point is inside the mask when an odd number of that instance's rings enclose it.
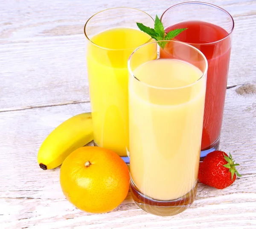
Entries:
{"label": "round rim of the glass holding red juice", "polygon": [[[222,12],[226,13],[226,14],[231,18],[231,22],[232,22],[232,29],[230,30],[230,32],[227,32],[228,34],[227,34],[224,38],[222,38],[222,39],[220,39],[220,40],[218,40],[218,41],[213,41],[213,42],[209,42],[209,43],[189,43],[189,44],[192,44],[192,45],[196,45],[196,44],[198,44],[198,45],[214,44],[214,43],[218,43],[218,42],[220,42],[220,41],[224,41],[226,38],[228,38],[228,37],[231,35],[231,33],[233,32],[234,27],[235,27],[235,22],[234,22],[234,19],[233,19],[232,15],[231,15],[229,12],[227,12],[227,10],[225,10],[225,9],[219,7],[219,6],[216,6],[216,5],[214,5],[214,4],[206,3],[206,2],[196,2],[196,1],[194,1],[194,2],[184,2],[184,3],[175,4],[175,5],[171,6],[171,7],[169,7],[168,9],[166,9],[166,10],[163,12],[163,14],[162,14],[161,17],[160,17],[161,22],[162,22],[163,15],[164,15],[169,9],[173,9],[173,8],[175,8],[175,7],[177,7],[177,6],[189,5],[189,4],[206,5],[206,6],[211,6],[211,7],[215,8],[215,9],[221,10]],[[222,28],[222,29],[223,29],[223,28]],[[175,39],[175,38],[174,38],[174,39]],[[179,41],[179,40],[177,40],[177,41]]]}

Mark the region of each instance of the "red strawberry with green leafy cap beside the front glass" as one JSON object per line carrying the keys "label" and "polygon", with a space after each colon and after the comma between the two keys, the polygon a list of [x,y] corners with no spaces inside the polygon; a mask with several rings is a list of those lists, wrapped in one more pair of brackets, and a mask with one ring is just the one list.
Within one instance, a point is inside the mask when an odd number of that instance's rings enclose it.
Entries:
{"label": "red strawberry with green leafy cap beside the front glass", "polygon": [[199,166],[198,179],[201,183],[223,189],[232,185],[236,180],[236,175],[241,175],[236,171],[232,156],[227,156],[223,151],[213,151],[205,157]]}

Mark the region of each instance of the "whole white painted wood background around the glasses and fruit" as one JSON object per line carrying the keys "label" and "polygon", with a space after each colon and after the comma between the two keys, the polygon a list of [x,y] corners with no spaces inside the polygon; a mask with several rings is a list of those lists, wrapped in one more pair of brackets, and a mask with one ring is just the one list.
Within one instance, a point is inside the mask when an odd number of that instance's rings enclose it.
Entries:
{"label": "whole white painted wood background around the glasses and fruit", "polygon": [[[90,110],[86,20],[118,6],[160,16],[179,2],[0,1],[0,229],[256,228],[255,0],[208,0],[229,11],[235,20],[231,88],[220,146],[241,164],[242,177],[232,186],[218,190],[199,184],[194,204],[173,217],[143,212],[130,193],[114,211],[92,215],[64,198],[59,168],[43,171],[37,164],[38,149],[47,135],[70,116]],[[241,87],[247,90],[239,94]]]}

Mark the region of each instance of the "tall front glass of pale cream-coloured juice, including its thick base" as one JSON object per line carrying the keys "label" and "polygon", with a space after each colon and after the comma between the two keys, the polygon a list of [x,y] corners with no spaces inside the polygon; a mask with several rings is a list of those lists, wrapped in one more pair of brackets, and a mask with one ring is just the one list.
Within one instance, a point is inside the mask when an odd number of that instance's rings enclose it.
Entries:
{"label": "tall front glass of pale cream-coloured juice, including its thick base", "polygon": [[175,215],[197,191],[207,60],[189,44],[155,41],[131,54],[128,69],[131,194],[146,212]]}

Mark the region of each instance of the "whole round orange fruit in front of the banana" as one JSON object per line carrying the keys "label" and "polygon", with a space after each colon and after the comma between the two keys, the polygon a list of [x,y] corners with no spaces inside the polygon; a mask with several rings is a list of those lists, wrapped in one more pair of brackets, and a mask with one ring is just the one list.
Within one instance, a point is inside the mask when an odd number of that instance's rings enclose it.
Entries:
{"label": "whole round orange fruit in front of the banana", "polygon": [[127,196],[130,174],[125,162],[113,151],[81,147],[61,165],[61,188],[77,208],[91,213],[110,212]]}

